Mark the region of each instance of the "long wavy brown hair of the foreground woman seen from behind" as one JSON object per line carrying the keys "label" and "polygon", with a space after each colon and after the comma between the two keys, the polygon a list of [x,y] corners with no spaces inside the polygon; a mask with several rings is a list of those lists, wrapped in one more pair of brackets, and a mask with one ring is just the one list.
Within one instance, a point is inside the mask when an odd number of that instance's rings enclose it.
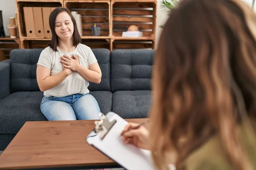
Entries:
{"label": "long wavy brown hair of the foreground woman seen from behind", "polygon": [[218,134],[227,160],[249,169],[235,127],[256,113],[256,15],[241,0],[181,0],[154,58],[150,141],[156,167],[177,169]]}

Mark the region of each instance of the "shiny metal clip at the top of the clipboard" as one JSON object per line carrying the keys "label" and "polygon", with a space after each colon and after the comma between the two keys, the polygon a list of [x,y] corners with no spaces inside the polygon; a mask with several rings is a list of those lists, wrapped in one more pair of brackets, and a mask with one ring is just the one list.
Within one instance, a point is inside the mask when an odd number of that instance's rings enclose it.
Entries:
{"label": "shiny metal clip at the top of the clipboard", "polygon": [[100,131],[102,131],[101,136],[100,136],[100,138],[102,140],[107,135],[109,130],[111,130],[113,125],[116,123],[116,120],[113,120],[112,122],[110,122],[108,120],[108,117],[105,116],[103,113],[99,113],[99,118],[100,118],[100,120],[96,120],[94,122],[95,132],[99,133]]}

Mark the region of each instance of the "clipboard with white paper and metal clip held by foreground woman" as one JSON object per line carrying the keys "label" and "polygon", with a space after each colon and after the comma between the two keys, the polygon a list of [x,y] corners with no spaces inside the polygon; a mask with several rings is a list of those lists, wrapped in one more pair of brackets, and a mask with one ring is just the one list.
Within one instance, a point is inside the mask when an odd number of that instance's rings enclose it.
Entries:
{"label": "clipboard with white paper and metal clip held by foreground woman", "polygon": [[120,133],[127,124],[116,113],[100,113],[100,120],[95,121],[96,127],[86,141],[126,170],[156,170],[151,151],[123,142]]}

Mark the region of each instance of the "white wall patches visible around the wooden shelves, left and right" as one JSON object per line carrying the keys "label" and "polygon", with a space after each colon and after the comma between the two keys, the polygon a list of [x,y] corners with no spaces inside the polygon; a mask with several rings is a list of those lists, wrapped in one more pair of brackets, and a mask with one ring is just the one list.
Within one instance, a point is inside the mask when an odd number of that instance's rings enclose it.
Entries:
{"label": "white wall patches visible around the wooden shelves, left and right", "polygon": [[[157,43],[160,37],[160,34],[162,32],[162,28],[159,26],[163,25],[166,22],[167,15],[163,12],[163,10],[160,8],[160,1],[157,0],[157,30],[156,30],[156,47]],[[253,0],[243,0],[245,1],[249,6],[251,6]],[[9,35],[9,30],[7,28],[7,25],[9,24],[9,17],[15,17],[16,12],[16,3],[15,0],[0,0],[0,10],[3,11],[3,25],[6,35]],[[256,11],[256,6],[255,6]]]}

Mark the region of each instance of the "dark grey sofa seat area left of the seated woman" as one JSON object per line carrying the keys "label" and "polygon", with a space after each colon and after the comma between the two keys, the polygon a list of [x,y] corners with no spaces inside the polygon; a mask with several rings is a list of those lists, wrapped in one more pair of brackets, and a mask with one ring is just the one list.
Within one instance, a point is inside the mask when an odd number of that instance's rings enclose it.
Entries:
{"label": "dark grey sofa seat area left of the seated woman", "polygon": [[43,92],[15,92],[0,100],[0,133],[16,134],[26,121],[44,121]]}

